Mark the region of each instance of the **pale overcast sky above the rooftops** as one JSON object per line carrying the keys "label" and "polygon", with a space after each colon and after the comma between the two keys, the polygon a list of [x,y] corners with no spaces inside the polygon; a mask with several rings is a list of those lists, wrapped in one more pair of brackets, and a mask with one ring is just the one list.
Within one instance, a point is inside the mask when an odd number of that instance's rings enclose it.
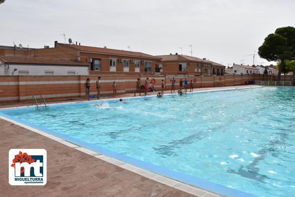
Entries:
{"label": "pale overcast sky above the rooftops", "polygon": [[[178,53],[252,64],[264,38],[295,27],[295,0],[5,0],[0,45],[43,48],[67,39],[81,45]],[[269,65],[255,57],[255,64]],[[271,62],[273,63],[273,62]]]}

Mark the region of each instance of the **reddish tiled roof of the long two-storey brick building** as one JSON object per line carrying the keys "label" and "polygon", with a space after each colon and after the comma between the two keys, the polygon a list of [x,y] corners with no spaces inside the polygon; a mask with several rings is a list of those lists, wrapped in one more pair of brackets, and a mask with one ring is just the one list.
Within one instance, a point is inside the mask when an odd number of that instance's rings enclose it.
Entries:
{"label": "reddish tiled roof of the long two-storey brick building", "polygon": [[100,47],[89,47],[89,46],[83,46],[83,45],[75,45],[75,44],[61,44],[68,47],[72,47],[75,49],[79,49],[81,51],[85,52],[95,52],[95,53],[102,53],[102,54],[114,54],[114,55],[122,55],[122,56],[138,56],[138,57],[148,57],[152,59],[159,59],[157,56],[151,56],[148,54],[144,54],[141,52],[133,52],[133,51],[124,51],[124,50],[118,50],[118,49],[105,49]]}

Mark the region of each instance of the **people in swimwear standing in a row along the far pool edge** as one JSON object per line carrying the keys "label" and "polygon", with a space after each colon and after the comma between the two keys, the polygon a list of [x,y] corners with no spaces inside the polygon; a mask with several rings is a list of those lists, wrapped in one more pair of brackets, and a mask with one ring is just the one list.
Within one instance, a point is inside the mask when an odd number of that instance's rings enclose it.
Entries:
{"label": "people in swimwear standing in a row along the far pool edge", "polygon": [[[100,83],[101,77],[97,78],[96,81],[96,99],[99,99],[100,97],[100,88],[102,86],[102,84]],[[154,79],[153,79],[154,80]],[[170,80],[171,83],[171,93],[172,91],[175,92],[175,84],[177,83],[176,79],[173,77],[172,80]],[[184,83],[184,86],[183,86]],[[86,98],[87,100],[89,100],[89,96],[90,96],[90,79],[87,78],[86,82],[84,83],[84,87],[85,87],[85,91],[86,91]],[[113,82],[113,96],[117,96],[117,83],[116,81]],[[194,89],[194,84],[193,81],[191,80],[190,83],[188,83],[187,78],[185,77],[184,81],[182,81],[182,79],[180,79],[179,81],[179,89],[177,90],[178,94],[182,95],[183,94],[183,90],[185,92],[187,92],[188,87],[190,87],[190,91],[192,92]],[[147,95],[148,90],[149,91],[155,91],[155,88],[153,86],[152,82],[149,82],[149,79],[147,77],[147,79],[145,80],[145,84],[141,85],[140,79],[137,79],[136,82],[136,91],[134,92],[134,96],[136,96],[136,93],[139,93],[139,95],[141,96],[141,91],[144,91],[145,95]],[[161,92],[159,92],[157,94],[158,97],[162,97],[162,95],[164,94],[164,80],[162,80],[161,83]]]}

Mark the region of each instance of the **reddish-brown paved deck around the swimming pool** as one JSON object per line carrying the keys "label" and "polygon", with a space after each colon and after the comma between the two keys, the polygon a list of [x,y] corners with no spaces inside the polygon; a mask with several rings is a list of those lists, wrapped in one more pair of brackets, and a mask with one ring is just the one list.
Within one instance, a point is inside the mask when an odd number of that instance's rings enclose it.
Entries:
{"label": "reddish-brown paved deck around the swimming pool", "polygon": [[[256,86],[256,85],[252,85]],[[244,86],[199,88],[196,91]],[[150,92],[148,95],[156,94]],[[170,93],[170,91],[165,91]],[[119,95],[117,98],[133,94]],[[110,98],[110,97],[108,97]],[[79,101],[79,100],[74,100]],[[69,102],[69,101],[64,101]],[[48,102],[49,103],[61,103]],[[29,104],[4,105],[20,107]],[[79,196],[79,197],[193,197],[147,177],[120,168],[77,149],[39,135],[0,118],[0,185],[1,196]],[[11,148],[47,150],[47,184],[45,186],[11,186],[8,183],[8,151]]]}

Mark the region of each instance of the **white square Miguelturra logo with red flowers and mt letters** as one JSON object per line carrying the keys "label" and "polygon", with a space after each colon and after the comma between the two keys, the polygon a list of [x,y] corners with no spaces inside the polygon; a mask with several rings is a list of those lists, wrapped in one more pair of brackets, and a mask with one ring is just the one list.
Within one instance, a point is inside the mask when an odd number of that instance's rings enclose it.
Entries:
{"label": "white square Miguelturra logo with red flowers and mt letters", "polygon": [[9,184],[45,185],[47,152],[45,149],[10,149]]}

